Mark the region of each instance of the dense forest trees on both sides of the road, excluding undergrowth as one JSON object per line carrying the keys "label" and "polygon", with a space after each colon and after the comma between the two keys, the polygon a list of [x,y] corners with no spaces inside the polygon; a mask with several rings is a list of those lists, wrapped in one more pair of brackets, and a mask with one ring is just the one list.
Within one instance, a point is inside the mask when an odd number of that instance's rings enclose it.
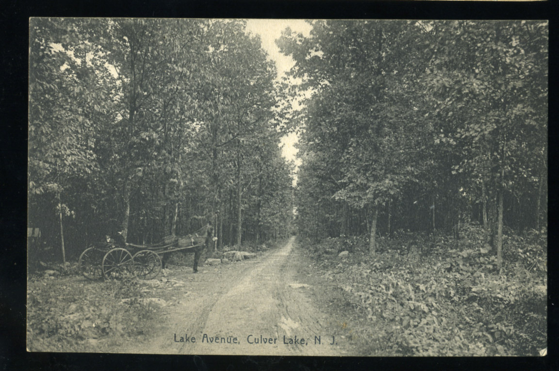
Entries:
{"label": "dense forest trees on both sides of the road, excluding undergrowth", "polygon": [[478,223],[499,265],[504,229],[546,228],[546,22],[311,24],[277,40],[282,84],[244,21],[32,20],[29,226],[74,255],[211,220],[217,248],[286,234],[295,206],[301,235],[371,253]]}

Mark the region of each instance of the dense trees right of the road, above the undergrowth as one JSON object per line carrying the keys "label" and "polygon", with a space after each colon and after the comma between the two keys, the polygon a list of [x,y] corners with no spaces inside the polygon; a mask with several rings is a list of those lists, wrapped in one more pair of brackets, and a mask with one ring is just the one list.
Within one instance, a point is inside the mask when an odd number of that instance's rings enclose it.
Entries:
{"label": "dense trees right of the road, above the undergrowth", "polygon": [[315,21],[278,41],[302,99],[297,225],[314,239],[547,226],[547,23]]}

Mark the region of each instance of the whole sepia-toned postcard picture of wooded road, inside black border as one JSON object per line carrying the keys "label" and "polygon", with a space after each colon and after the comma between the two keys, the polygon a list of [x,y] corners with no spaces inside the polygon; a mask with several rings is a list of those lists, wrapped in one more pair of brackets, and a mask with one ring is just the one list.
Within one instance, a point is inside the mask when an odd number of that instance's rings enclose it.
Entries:
{"label": "whole sepia-toned postcard picture of wooded road, inside black border", "polygon": [[547,355],[548,21],[29,31],[27,351]]}

